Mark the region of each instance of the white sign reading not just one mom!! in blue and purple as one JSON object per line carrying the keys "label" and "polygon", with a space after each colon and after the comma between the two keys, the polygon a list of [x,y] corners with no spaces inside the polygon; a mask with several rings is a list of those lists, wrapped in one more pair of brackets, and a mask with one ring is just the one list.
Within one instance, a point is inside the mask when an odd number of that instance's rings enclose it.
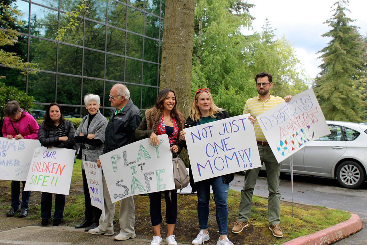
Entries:
{"label": "white sign reading not just one mom!! in blue and purple", "polygon": [[195,182],[261,167],[248,115],[183,129]]}

